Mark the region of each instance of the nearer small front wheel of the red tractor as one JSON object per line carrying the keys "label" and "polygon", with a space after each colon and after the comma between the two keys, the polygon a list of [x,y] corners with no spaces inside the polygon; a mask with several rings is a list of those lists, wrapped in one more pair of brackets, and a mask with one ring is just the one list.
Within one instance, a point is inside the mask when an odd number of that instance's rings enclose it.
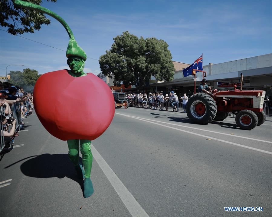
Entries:
{"label": "nearer small front wheel of the red tractor", "polygon": [[257,115],[251,110],[242,110],[238,112],[235,118],[238,127],[244,130],[252,130],[257,126],[258,118]]}

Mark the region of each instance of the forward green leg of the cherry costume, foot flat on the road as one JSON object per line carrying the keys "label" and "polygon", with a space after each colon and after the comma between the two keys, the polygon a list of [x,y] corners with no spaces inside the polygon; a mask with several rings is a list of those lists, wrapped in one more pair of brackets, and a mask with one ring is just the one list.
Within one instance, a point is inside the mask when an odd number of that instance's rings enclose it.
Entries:
{"label": "forward green leg of the cherry costume, foot flat on the road", "polygon": [[91,169],[93,164],[93,155],[91,151],[90,140],[80,140],[80,152],[82,154],[82,162],[83,162],[83,166],[85,170],[83,195],[85,198],[87,198],[93,194],[93,184],[90,179]]}

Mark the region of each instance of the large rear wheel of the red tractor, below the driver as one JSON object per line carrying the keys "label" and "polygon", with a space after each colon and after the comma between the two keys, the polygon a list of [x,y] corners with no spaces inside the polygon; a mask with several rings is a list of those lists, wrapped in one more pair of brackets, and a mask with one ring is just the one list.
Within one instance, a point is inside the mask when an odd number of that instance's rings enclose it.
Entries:
{"label": "large rear wheel of the red tractor, below the driver", "polygon": [[197,124],[208,124],[216,115],[215,100],[206,93],[196,93],[187,102],[187,116]]}

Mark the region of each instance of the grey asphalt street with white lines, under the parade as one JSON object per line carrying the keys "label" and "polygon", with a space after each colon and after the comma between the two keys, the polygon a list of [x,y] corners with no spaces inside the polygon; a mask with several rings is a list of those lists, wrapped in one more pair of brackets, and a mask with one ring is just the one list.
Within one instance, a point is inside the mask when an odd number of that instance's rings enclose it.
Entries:
{"label": "grey asphalt street with white lines, under the parade", "polygon": [[[0,162],[1,216],[272,216],[272,118],[251,131],[234,118],[193,124],[185,113],[117,108],[92,141],[94,194],[67,144],[36,115]],[[208,140],[209,139],[209,140]],[[263,212],[225,212],[262,206]],[[136,213],[136,214],[135,214]]]}

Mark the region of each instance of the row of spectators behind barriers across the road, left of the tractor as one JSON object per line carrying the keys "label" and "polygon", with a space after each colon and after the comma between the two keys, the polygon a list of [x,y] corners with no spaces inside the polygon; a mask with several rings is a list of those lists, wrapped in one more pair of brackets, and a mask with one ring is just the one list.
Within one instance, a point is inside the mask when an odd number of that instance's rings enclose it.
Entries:
{"label": "row of spectators behind barriers across the road, left of the tractor", "polygon": [[188,102],[188,96],[186,93],[182,97],[178,97],[174,91],[163,95],[163,93],[128,93],[126,94],[126,100],[130,106],[150,108],[163,111],[168,111],[169,107],[172,108],[172,112],[179,111],[179,99],[182,101],[182,107],[186,112],[186,104]]}

